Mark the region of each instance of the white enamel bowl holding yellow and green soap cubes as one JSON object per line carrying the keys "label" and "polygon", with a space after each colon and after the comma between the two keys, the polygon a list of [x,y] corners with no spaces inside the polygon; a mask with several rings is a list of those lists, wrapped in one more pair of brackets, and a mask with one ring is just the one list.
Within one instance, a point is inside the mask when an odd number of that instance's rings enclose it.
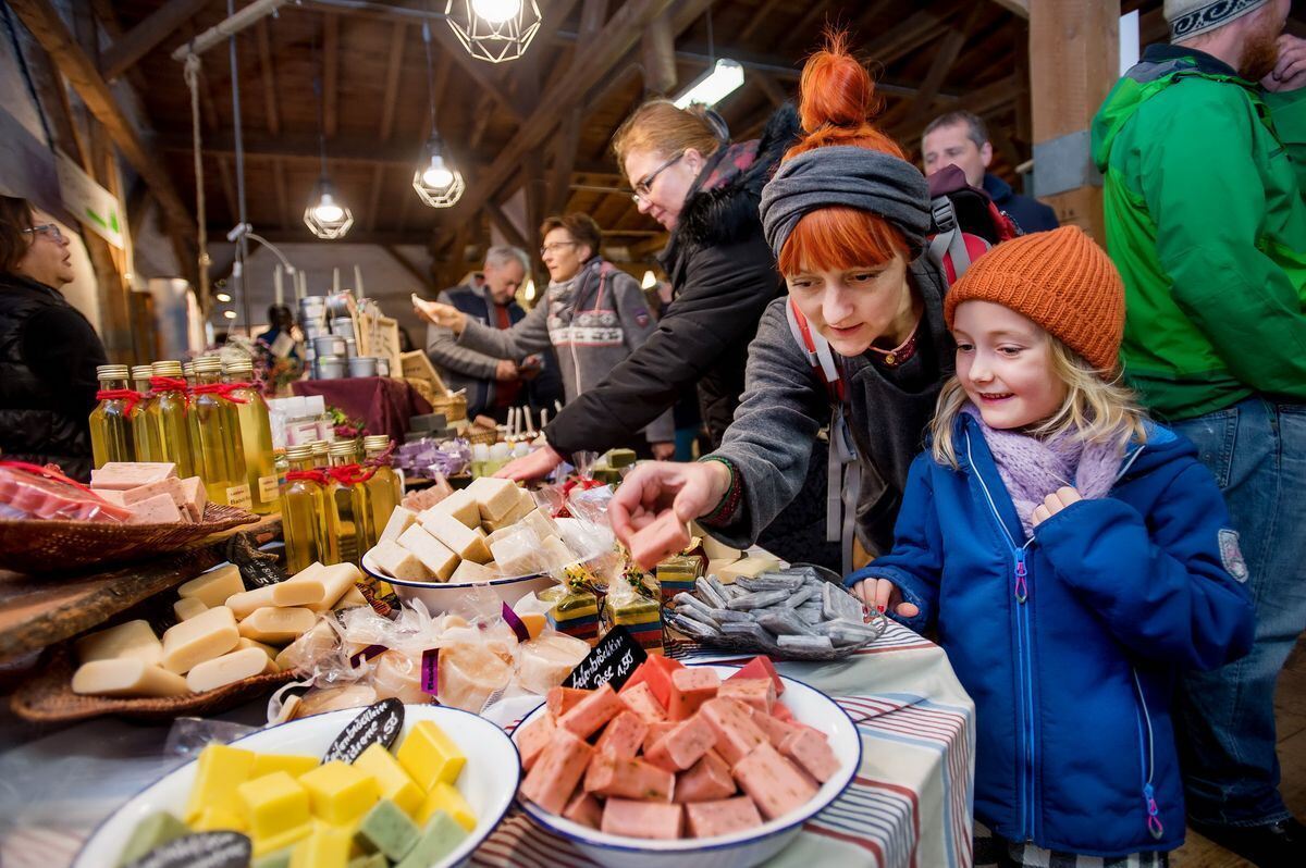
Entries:
{"label": "white enamel bowl holding yellow and green soap cubes", "polygon": [[[259,753],[321,756],[341,730],[360,713],[362,709],[326,711],[260,730],[231,744]],[[439,726],[468,757],[457,787],[477,814],[477,828],[440,863],[440,868],[461,865],[512,807],[521,777],[521,756],[508,735],[494,723],[468,711],[436,705],[405,705],[404,731],[394,745],[402,744],[413,724],[419,721],[431,721]],[[196,764],[192,761],[170,771],[114,812],[91,833],[72,868],[118,864],[119,854],[145,817],[158,811],[175,814],[185,804],[195,782],[195,769]]]}

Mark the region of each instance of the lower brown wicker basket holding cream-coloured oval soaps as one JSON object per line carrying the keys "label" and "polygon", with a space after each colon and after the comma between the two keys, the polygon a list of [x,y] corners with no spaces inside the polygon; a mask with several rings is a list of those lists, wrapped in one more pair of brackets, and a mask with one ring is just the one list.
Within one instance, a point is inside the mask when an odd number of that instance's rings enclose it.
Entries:
{"label": "lower brown wicker basket holding cream-coloured oval soaps", "polygon": [[259,697],[272,696],[282,684],[295,679],[294,671],[256,675],[252,679],[221,687],[217,690],[189,693],[167,698],[127,700],[108,696],[73,693],[73,658],[67,646],[50,650],[39,675],[14,690],[9,707],[31,723],[72,723],[107,714],[137,721],[172,721],[179,717],[212,715]]}

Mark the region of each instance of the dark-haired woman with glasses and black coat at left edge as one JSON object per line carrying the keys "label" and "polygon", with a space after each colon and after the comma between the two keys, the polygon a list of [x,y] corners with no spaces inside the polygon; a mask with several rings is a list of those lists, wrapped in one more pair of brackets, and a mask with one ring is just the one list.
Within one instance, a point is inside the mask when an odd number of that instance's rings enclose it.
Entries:
{"label": "dark-haired woman with glasses and black coat at left edge", "polygon": [[95,329],[59,290],[73,279],[68,239],[27,200],[0,196],[0,453],[89,479]]}

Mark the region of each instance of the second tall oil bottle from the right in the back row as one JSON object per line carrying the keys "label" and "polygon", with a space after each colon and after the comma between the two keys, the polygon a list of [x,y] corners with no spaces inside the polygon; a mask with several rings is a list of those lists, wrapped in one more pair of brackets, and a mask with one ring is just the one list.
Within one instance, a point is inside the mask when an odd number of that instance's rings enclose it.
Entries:
{"label": "second tall oil bottle from the right in the back row", "polygon": [[222,389],[222,360],[215,355],[195,360],[195,398],[191,405],[191,446],[196,470],[209,500],[249,509],[244,445],[236,403]]}

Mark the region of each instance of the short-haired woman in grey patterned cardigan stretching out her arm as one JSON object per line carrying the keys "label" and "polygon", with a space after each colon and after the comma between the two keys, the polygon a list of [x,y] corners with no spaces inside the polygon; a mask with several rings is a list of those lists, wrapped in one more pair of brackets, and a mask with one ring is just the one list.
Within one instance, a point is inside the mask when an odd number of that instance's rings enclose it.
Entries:
{"label": "short-haired woman in grey patterned cardigan stretching out her arm", "polygon": [[[451,329],[458,346],[496,359],[518,360],[552,347],[571,405],[635,352],[657,324],[639,282],[598,255],[602,232],[593,218],[550,217],[539,234],[549,290],[543,302],[512,328],[478,322],[449,304],[419,299],[413,303],[427,321]],[[614,445],[670,458],[675,452],[673,424],[670,411],[653,414]],[[646,448],[641,448],[641,428]]]}

